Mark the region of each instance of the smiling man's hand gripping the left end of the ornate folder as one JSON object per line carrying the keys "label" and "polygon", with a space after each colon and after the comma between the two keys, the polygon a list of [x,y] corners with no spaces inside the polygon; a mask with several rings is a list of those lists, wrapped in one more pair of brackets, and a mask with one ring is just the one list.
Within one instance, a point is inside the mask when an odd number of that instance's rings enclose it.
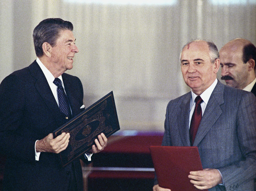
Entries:
{"label": "smiling man's hand gripping the left end of the ornate folder", "polygon": [[36,142],[36,152],[60,153],[68,147],[69,137],[69,133],[62,133],[53,138],[53,134],[50,133]]}

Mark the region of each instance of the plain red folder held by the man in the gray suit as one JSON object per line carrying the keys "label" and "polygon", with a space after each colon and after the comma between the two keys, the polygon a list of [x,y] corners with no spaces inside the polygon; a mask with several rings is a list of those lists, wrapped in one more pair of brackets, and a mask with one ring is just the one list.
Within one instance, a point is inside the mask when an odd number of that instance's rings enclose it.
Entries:
{"label": "plain red folder held by the man in the gray suit", "polygon": [[188,178],[190,171],[203,170],[197,147],[151,146],[150,153],[160,187],[198,191]]}

